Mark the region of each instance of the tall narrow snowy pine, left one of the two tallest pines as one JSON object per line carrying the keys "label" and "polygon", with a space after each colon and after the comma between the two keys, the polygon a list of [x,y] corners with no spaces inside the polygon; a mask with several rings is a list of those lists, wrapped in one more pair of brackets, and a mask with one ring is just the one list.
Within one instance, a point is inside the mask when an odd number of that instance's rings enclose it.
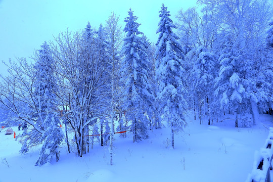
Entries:
{"label": "tall narrow snowy pine, left one of the two tallest pines", "polygon": [[127,118],[132,122],[130,130],[133,132],[133,142],[141,139],[147,139],[149,136],[149,120],[145,114],[149,105],[147,104],[152,95],[148,92],[150,88],[148,82],[147,53],[145,52],[145,43],[139,36],[143,33],[138,30],[140,23],[133,16],[131,9],[128,11],[128,17],[124,32],[124,44],[122,47],[121,80],[124,82],[123,110],[126,111]]}

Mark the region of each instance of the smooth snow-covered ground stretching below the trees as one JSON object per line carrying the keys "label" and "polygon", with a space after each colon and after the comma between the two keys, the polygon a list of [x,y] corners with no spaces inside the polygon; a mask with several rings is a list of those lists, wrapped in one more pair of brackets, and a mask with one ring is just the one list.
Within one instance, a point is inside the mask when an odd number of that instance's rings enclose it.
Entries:
{"label": "smooth snow-covered ground stretching below the trees", "polygon": [[[253,128],[235,128],[226,119],[207,125],[188,119],[185,132],[175,135],[171,148],[168,127],[153,130],[150,139],[133,143],[131,134],[115,134],[114,165],[109,165],[107,147],[99,144],[79,158],[62,146],[60,161],[55,158],[34,166],[39,146],[19,154],[13,135],[0,132],[0,181],[245,181],[253,167],[255,150],[263,147],[273,117],[260,115]],[[13,127],[18,135],[17,127]]]}

